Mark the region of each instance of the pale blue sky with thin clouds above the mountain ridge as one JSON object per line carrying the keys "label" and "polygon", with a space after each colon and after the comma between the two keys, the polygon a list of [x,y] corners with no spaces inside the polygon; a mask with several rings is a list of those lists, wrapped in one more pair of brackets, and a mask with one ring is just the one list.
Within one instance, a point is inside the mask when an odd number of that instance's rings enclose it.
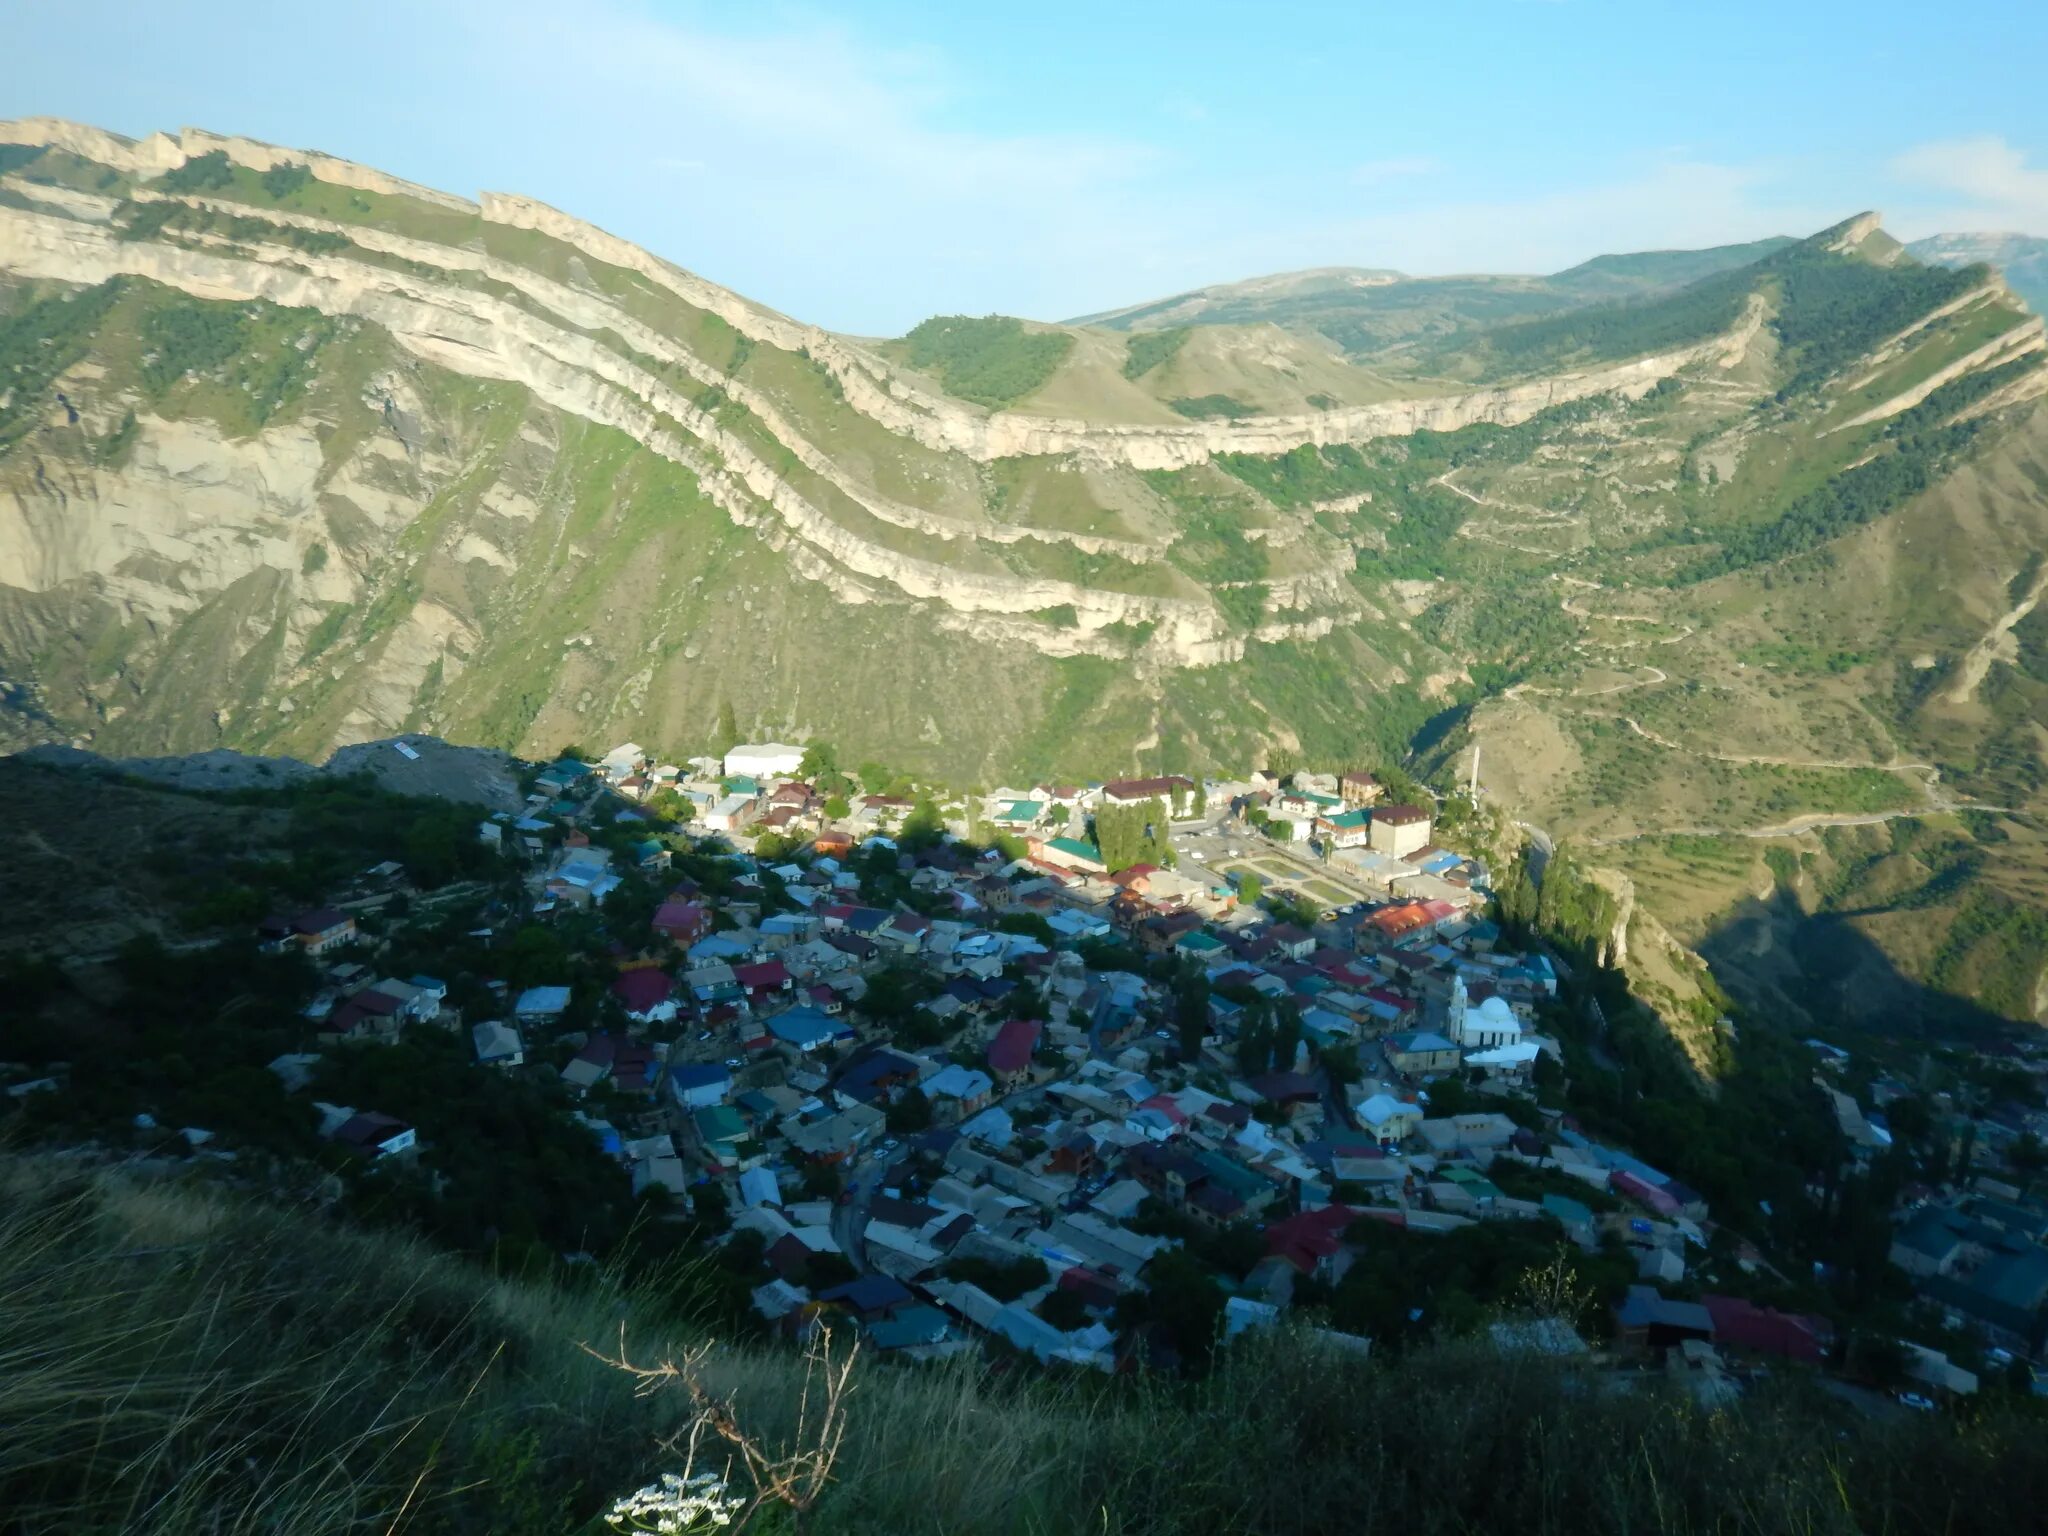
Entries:
{"label": "pale blue sky with thin clouds above the mountain ridge", "polygon": [[801,319],[1065,319],[1303,266],[2048,236],[2048,4],[10,6],[0,115],[524,193]]}

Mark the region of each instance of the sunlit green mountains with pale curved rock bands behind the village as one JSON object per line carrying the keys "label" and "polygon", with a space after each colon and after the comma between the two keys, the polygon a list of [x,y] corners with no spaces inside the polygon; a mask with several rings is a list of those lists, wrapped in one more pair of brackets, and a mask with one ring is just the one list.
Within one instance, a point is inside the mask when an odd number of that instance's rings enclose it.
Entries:
{"label": "sunlit green mountains with pale curved rock bands behind the village", "polygon": [[862,340],[528,199],[4,125],[0,731],[729,719],[954,782],[1477,748],[1786,1006],[2048,1012],[2048,371],[1993,270],[1864,215],[1266,281],[1423,295],[1358,346],[1223,313],[1260,293]]}

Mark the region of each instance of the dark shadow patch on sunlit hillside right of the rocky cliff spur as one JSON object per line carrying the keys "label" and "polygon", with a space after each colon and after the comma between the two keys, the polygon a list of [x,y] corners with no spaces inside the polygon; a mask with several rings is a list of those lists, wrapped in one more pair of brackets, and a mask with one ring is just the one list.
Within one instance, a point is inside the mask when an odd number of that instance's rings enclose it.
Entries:
{"label": "dark shadow patch on sunlit hillside right of the rocky cliff spur", "polygon": [[1729,995],[1788,1026],[1985,1042],[2015,1020],[1905,975],[1853,913],[1808,913],[1784,887],[1741,901],[1698,952]]}

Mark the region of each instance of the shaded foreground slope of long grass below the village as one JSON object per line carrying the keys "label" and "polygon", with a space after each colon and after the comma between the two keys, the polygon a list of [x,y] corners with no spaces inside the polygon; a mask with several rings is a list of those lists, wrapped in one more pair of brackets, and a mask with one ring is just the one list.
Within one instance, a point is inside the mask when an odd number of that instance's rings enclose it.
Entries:
{"label": "shaded foreground slope of long grass below the village", "polygon": [[[702,1274],[492,1276],[76,1161],[0,1157],[0,1501],[23,1530],[567,1536],[680,1470],[664,1440],[688,1425],[680,1384],[637,1395],[594,1352],[659,1364],[725,1333],[692,1311]],[[809,1444],[795,1354],[725,1337],[696,1370],[770,1450]],[[1954,1536],[2023,1526],[2048,1495],[2017,1409],[1870,1421],[1786,1380],[1706,1413],[1602,1380],[1473,1346],[1366,1364],[1296,1335],[1239,1341],[1186,1386],[858,1360],[803,1528]]]}

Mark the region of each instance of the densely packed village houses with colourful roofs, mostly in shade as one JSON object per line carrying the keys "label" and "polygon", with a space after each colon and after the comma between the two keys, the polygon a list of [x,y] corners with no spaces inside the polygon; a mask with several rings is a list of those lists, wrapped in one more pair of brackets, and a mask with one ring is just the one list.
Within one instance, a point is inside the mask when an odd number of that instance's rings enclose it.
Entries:
{"label": "densely packed village houses with colourful roofs, mostly in shade", "polygon": [[[1421,1262],[1417,1243],[1511,1243],[1552,1257],[1513,1276],[1501,1348],[1675,1372],[1708,1403],[1839,1356],[1825,1317],[1716,1288],[1767,1260],[1565,1112],[1544,1028],[1561,958],[1507,944],[1483,860],[1372,774],[942,803],[860,793],[797,745],[670,766],[627,743],[528,780],[522,813],[477,825],[518,870],[526,911],[506,920],[643,899],[606,924],[600,997],[494,983],[494,1014],[463,1014],[432,975],[377,975],[340,907],[262,938],[322,967],[322,1049],[449,1028],[477,1071],[559,1077],[635,1196],[717,1219],[772,1331],[1114,1370],[1311,1307],[1321,1339],[1362,1354],[1370,1309],[1343,1307],[1346,1280],[1378,1245]],[[1860,1104],[1845,1053],[1810,1047],[1855,1157],[1880,1153],[1903,1090]],[[272,1073],[303,1090],[317,1063]],[[315,1108],[362,1159],[420,1155],[377,1104]],[[1978,1165],[2023,1163],[2040,1128],[2021,1118],[2017,1159],[1985,1147]],[[1898,1217],[1892,1264],[1989,1341],[1980,1358],[2034,1358],[2048,1208],[1987,1171],[1909,1190]],[[1612,1305],[1589,1305],[1595,1272]],[[1898,1350],[1907,1407],[1978,1386],[1942,1350]]]}

